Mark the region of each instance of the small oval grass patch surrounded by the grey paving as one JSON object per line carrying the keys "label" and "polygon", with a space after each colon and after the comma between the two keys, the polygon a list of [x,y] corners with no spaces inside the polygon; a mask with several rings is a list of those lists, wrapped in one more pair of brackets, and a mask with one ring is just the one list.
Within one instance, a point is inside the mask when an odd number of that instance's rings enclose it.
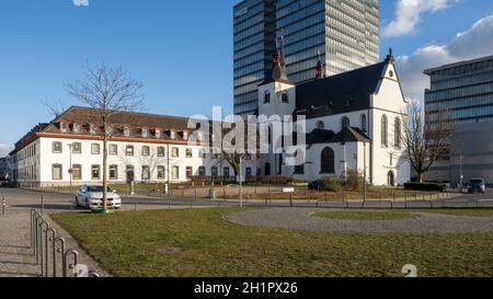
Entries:
{"label": "small oval grass patch surrounded by the grey paving", "polygon": [[313,217],[337,219],[337,220],[402,220],[414,219],[420,216],[409,211],[355,211],[355,210],[334,210],[313,214]]}

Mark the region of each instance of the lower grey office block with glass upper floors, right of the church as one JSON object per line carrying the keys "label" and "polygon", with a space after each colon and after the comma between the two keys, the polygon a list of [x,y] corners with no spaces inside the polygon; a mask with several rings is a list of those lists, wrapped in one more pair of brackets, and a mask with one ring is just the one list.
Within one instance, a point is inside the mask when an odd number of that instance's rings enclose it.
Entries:
{"label": "lower grey office block with glass upper floors, right of the church", "polygon": [[446,108],[456,124],[450,156],[427,174],[429,181],[458,184],[471,177],[493,183],[493,56],[425,70],[431,89],[426,110]]}

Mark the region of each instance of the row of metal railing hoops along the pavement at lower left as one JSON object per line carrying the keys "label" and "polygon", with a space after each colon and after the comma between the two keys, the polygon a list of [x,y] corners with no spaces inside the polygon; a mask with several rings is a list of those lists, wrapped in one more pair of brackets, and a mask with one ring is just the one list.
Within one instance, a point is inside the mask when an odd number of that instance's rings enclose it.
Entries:
{"label": "row of metal railing hoops along the pavement at lower left", "polygon": [[60,277],[100,277],[96,272],[89,272],[85,265],[79,264],[79,252],[66,250],[66,240],[36,209],[31,210],[31,249],[43,277],[57,277],[59,274]]}

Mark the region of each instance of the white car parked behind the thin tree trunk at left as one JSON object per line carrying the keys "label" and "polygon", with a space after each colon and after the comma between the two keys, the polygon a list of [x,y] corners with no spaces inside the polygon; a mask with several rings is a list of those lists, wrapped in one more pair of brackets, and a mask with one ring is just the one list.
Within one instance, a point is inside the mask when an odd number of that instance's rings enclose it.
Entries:
{"label": "white car parked behind the thin tree trunk at left", "polygon": [[[103,186],[83,185],[76,194],[76,205],[87,209],[98,209],[103,207]],[[122,197],[116,191],[107,187],[107,207],[119,209],[122,207]]]}

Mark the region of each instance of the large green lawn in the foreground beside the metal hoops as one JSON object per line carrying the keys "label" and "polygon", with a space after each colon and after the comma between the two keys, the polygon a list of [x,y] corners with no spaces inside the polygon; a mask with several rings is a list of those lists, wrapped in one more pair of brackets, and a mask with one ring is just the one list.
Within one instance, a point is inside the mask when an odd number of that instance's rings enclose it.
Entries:
{"label": "large green lawn in the foreground beside the metal hoops", "polygon": [[395,235],[244,227],[231,208],[55,214],[116,276],[493,276],[493,232]]}

